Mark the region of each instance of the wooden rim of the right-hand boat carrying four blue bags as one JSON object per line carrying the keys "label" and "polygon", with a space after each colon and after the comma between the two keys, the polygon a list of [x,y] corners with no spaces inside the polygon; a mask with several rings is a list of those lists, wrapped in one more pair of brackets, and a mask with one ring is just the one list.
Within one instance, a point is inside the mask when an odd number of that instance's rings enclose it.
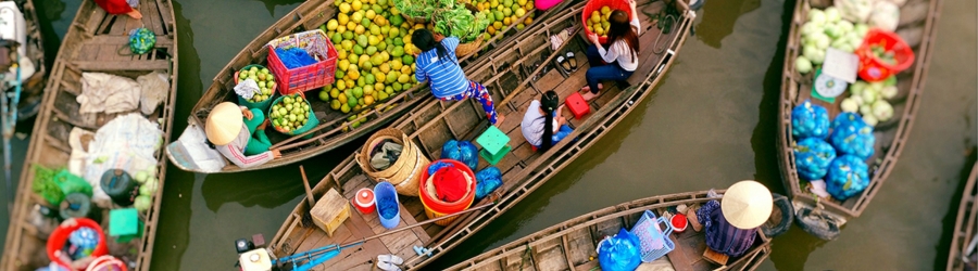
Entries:
{"label": "wooden rim of the right-hand boat carrying four blue bags", "polygon": [[[920,107],[920,95],[924,91],[924,82],[930,66],[930,60],[932,59],[933,50],[931,47],[937,38],[937,18],[940,15],[942,0],[925,1],[928,1],[929,5],[927,17],[923,20],[924,34],[920,36],[920,42],[917,46],[919,53],[917,54],[914,64],[913,79],[906,95],[906,106],[904,106],[903,114],[900,115],[901,118],[899,119],[895,136],[887,154],[881,157],[882,162],[879,164],[878,169],[875,173],[870,172],[873,176],[866,189],[857,196],[841,203],[837,199],[816,201],[815,196],[812,194],[802,192],[799,183],[801,179],[798,176],[798,167],[794,163],[794,149],[792,146],[792,143],[795,142],[795,140],[791,134],[791,109],[793,108],[794,100],[792,96],[797,98],[798,91],[800,91],[794,60],[800,55],[801,51],[801,26],[804,24],[802,18],[804,18],[804,13],[812,8],[810,0],[802,0],[795,3],[793,15],[789,22],[788,44],[785,50],[785,65],[781,72],[781,89],[778,94],[778,133],[776,134],[776,149],[778,150],[778,164],[781,171],[781,181],[792,202],[807,206],[815,206],[816,202],[818,202],[825,206],[826,209],[824,212],[827,212],[830,216],[838,218],[856,218],[863,214],[866,206],[873,201],[876,193],[879,192],[879,188],[892,171],[893,166],[899,159],[903,146],[906,144],[906,140],[910,137],[910,131],[916,119],[915,116]],[[906,4],[911,4],[911,1],[904,3],[904,5]],[[914,25],[918,25],[920,21],[914,22],[917,22]],[[902,28],[898,28],[898,30]],[[879,144],[879,142],[877,143]],[[845,205],[848,205],[847,202],[849,201],[855,201],[854,204],[852,204],[852,207],[845,207]]]}

